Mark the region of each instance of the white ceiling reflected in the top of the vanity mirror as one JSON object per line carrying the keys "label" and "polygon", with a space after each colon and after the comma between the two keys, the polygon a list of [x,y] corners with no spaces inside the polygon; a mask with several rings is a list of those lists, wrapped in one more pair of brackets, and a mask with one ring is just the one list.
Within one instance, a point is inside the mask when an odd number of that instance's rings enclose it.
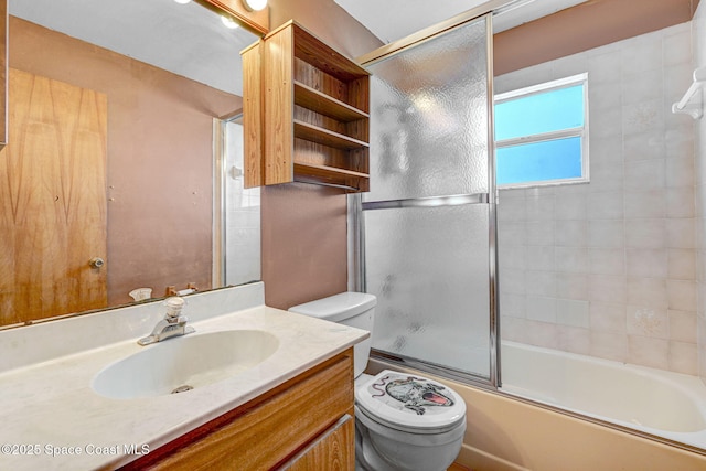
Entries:
{"label": "white ceiling reflected in the top of the vanity mirror", "polygon": [[239,52],[256,41],[196,2],[9,0],[10,14],[243,96]]}

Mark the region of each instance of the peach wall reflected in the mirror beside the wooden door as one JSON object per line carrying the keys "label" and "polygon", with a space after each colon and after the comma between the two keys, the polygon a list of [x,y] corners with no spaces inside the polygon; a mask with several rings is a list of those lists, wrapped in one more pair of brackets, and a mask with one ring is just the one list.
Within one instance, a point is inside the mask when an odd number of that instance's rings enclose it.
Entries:
{"label": "peach wall reflected in the mirror beside the wooden door", "polygon": [[235,95],[10,18],[10,66],[108,96],[108,303],[211,288],[213,117]]}

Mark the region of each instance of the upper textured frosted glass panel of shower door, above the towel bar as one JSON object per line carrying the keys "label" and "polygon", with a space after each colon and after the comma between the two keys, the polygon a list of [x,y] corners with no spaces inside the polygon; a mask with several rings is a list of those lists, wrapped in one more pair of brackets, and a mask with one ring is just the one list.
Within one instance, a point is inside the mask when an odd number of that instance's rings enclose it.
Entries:
{"label": "upper textured frosted glass panel of shower door, above the towel bar", "polygon": [[374,184],[363,200],[488,193],[485,20],[367,68]]}

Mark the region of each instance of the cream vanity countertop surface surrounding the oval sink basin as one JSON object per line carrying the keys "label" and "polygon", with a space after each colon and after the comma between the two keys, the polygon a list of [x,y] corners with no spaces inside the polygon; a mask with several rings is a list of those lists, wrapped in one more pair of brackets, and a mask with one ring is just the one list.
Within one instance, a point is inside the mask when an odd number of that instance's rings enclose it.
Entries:
{"label": "cream vanity countertop surface surrounding the oval sink basin", "polygon": [[[182,394],[109,399],[92,379],[105,366],[161,345],[137,339],[0,374],[0,469],[114,469],[184,435],[368,336],[265,306],[192,323],[196,332],[264,330],[279,349],[259,365]],[[170,342],[167,340],[165,342]]]}

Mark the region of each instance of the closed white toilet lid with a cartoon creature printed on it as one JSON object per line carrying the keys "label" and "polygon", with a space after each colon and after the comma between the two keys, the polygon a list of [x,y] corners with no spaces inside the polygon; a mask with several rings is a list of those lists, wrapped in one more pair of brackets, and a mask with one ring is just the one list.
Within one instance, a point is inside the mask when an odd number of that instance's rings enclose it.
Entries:
{"label": "closed white toilet lid with a cartoon creature printed on it", "polygon": [[355,390],[359,407],[372,419],[405,429],[447,429],[464,420],[466,403],[431,379],[385,370]]}

